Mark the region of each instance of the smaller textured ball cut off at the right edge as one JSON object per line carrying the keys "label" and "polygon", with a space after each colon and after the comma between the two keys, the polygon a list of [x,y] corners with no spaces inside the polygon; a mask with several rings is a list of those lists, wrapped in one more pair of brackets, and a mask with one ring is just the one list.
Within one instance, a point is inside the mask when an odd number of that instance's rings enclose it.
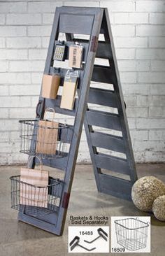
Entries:
{"label": "smaller textured ball cut off at the right edge", "polygon": [[165,195],[155,199],[152,205],[152,212],[157,220],[165,221]]}

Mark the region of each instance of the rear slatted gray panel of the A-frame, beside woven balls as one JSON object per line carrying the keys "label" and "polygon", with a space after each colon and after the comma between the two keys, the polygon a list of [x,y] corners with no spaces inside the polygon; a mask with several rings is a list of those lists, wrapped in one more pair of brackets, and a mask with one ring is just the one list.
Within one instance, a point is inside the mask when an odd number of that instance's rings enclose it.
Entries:
{"label": "rear slatted gray panel of the A-frame, beside woven balls", "polygon": [[[87,101],[89,106],[85,113],[85,131],[98,190],[131,199],[131,185],[137,176],[107,10],[103,15],[100,34],[103,34],[105,41],[98,42],[96,57],[108,59],[109,66],[94,64],[92,81],[106,83],[106,87],[107,84],[113,85],[114,91],[90,88]],[[92,109],[92,104],[97,104],[99,111]],[[113,113],[106,112],[107,107],[115,108],[114,111],[108,110]],[[107,131],[95,131],[92,126],[103,127]],[[109,134],[108,129],[121,131],[122,137]],[[121,154],[126,158],[114,156]],[[103,169],[106,174],[101,173]],[[119,173],[120,176],[127,176],[129,180],[116,178],[110,173],[114,176]]]}

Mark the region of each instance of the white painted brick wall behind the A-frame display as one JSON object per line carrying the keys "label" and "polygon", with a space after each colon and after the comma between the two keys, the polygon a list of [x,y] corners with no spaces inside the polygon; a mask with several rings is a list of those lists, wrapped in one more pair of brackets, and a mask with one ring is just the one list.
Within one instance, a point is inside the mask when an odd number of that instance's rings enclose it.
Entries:
{"label": "white painted brick wall behind the A-frame display", "polygon": [[[18,122],[34,118],[56,6],[107,7],[137,162],[165,161],[165,4],[0,1],[0,164],[24,162]],[[71,118],[69,122],[71,122]],[[78,161],[89,161],[82,134]]]}

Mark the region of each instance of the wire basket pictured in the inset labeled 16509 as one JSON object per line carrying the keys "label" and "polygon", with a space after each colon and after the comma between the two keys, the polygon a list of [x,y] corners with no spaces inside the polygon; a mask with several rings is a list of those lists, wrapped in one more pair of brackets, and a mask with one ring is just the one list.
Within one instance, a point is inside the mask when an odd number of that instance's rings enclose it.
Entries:
{"label": "wire basket pictured in the inset labeled 16509", "polygon": [[138,218],[115,220],[117,243],[127,250],[139,250],[147,246],[149,223]]}

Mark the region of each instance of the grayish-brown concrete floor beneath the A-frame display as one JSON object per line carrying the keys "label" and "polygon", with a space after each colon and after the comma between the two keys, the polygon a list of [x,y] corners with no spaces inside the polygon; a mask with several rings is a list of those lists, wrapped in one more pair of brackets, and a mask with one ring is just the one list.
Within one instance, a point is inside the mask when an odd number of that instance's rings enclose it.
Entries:
{"label": "grayish-brown concrete floor beneath the A-frame display", "polygon": [[[66,256],[68,246],[69,215],[145,216],[130,201],[98,193],[90,165],[77,165],[73,189],[63,236],[55,236],[41,229],[17,222],[17,211],[10,208],[10,176],[19,173],[20,166],[0,167],[0,256]],[[165,164],[138,164],[138,178],[156,176],[165,182]],[[151,253],[140,255],[164,256],[165,222],[153,215],[151,227]],[[91,255],[79,253],[78,255]],[[94,255],[94,254],[93,254]],[[96,255],[103,255],[97,253]],[[105,253],[104,255],[115,255]],[[119,253],[118,255],[121,255]],[[130,255],[125,253],[124,255]],[[131,253],[131,255],[139,255]]]}

